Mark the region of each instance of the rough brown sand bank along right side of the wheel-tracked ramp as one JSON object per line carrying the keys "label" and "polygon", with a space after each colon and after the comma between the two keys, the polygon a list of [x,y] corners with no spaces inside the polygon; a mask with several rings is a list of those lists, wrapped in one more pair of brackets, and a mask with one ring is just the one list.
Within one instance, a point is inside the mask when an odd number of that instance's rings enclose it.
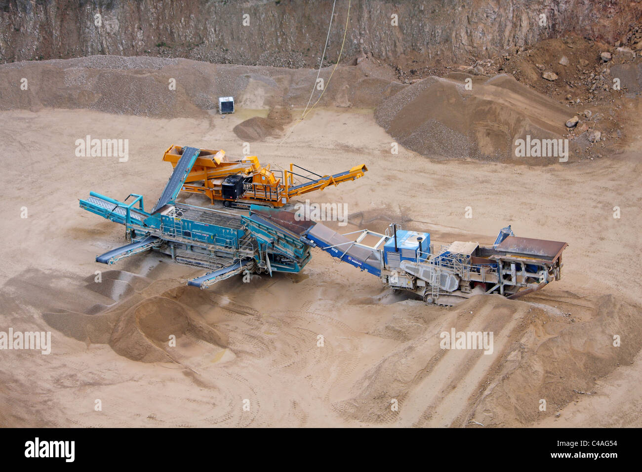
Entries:
{"label": "rough brown sand bank along right side of the wheel-tracked ramp", "polygon": [[[540,317],[521,330],[519,345],[507,353],[486,392],[476,398],[471,419],[487,426],[531,424],[578,395],[596,394],[597,379],[634,363],[642,336],[639,306],[613,295],[592,304],[592,320],[568,324]],[[541,399],[546,400],[546,412],[539,410]]]}

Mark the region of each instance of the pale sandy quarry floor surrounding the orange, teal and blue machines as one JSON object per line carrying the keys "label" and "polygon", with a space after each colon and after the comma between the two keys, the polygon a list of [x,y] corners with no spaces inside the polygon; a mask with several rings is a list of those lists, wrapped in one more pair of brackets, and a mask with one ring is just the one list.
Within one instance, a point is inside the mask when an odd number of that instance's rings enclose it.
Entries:
{"label": "pale sandy quarry floor surrounding the orange, teal and blue machines", "polygon": [[[2,352],[0,424],[642,426],[635,145],[552,166],[433,161],[403,147],[391,154],[374,110],[356,108],[315,110],[285,143],[251,144],[263,163],[324,173],[365,163],[364,178],[309,196],[345,202],[346,232],[394,221],[431,232],[435,244],[490,243],[511,224],[517,236],[567,241],[562,280],[523,301],[426,306],[320,251],[301,274],[235,278],[209,291],[184,286],[200,271],[157,254],[110,268],[94,262],[123,243],[123,229],[82,211],[78,198],[134,192],[153,205],[170,174],[161,161],[169,145],[241,155],[232,129],[264,111],[225,119],[0,112],[2,329],[50,330],[53,344],[49,355]],[[130,139],[129,161],[75,157],[85,135]],[[105,271],[100,284],[96,270]],[[493,331],[493,353],[440,349],[438,334],[453,327]]]}

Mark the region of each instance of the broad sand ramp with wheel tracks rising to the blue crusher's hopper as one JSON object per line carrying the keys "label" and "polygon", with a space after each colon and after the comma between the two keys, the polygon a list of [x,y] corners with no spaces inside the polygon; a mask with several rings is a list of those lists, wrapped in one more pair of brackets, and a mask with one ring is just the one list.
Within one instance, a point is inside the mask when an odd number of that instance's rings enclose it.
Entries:
{"label": "broad sand ramp with wheel tracks rising to the blue crusher's hopper", "polygon": [[[358,421],[397,426],[531,424],[578,394],[591,394],[597,377],[634,359],[642,335],[636,307],[600,297],[593,301],[596,317],[582,323],[543,307],[481,296],[428,324],[393,320],[385,326],[388,335],[405,342],[354,383],[355,396],[333,408]],[[492,331],[492,352],[441,349],[440,333],[451,327]],[[392,399],[399,410],[390,408]],[[539,408],[541,399],[546,410]]]}

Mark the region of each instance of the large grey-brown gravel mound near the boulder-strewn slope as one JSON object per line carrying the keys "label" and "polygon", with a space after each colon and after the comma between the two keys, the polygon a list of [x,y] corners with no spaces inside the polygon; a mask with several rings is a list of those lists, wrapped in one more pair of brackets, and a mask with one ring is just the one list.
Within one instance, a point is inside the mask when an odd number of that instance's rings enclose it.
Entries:
{"label": "large grey-brown gravel mound near the boulder-strewn slope", "polygon": [[560,139],[570,114],[512,76],[473,82],[473,76],[451,74],[410,85],[381,104],[376,119],[399,144],[423,155],[538,165],[559,157],[517,157],[516,140]]}

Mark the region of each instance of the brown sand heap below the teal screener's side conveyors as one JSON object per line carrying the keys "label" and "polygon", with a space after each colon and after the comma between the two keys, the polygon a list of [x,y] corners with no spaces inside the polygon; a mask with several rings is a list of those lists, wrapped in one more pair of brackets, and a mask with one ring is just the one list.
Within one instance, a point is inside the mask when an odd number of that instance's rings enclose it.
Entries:
{"label": "brown sand heap below the teal screener's side conveyors", "polygon": [[[113,303],[44,313],[49,326],[88,344],[109,344],[121,356],[140,362],[180,362],[186,351],[194,354],[192,344],[205,342],[216,351],[227,343],[224,335],[178,301],[189,289],[174,281],[152,283],[140,275],[110,270],[100,283],[88,277],[86,288],[98,295],[96,299]],[[200,290],[190,292],[191,301],[198,301]]]}

